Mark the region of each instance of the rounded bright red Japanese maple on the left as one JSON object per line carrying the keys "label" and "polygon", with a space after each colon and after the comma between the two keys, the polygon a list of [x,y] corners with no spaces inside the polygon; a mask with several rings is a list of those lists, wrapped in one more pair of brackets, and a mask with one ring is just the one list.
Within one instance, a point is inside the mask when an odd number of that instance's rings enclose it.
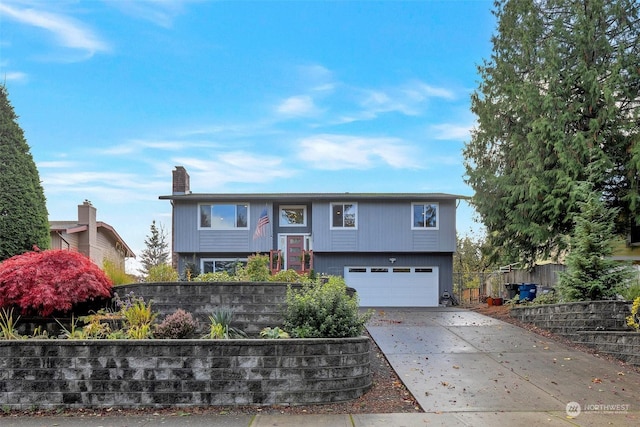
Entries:
{"label": "rounded bright red Japanese maple on the left", "polygon": [[74,251],[26,252],[0,263],[0,307],[48,316],[75,304],[109,298],[112,283],[87,256]]}

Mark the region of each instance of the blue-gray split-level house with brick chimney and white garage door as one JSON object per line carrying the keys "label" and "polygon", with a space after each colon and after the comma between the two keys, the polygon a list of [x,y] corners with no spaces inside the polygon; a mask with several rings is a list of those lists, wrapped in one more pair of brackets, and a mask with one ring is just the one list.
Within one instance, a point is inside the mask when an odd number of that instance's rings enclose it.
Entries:
{"label": "blue-gray split-level house with brick chimney and white garage door", "polygon": [[[363,306],[437,306],[452,294],[456,204],[442,193],[193,194],[173,171],[174,266],[226,270],[254,253],[343,276]],[[266,219],[265,219],[266,218]],[[267,222],[268,221],[268,222]],[[277,269],[278,267],[276,267]]]}

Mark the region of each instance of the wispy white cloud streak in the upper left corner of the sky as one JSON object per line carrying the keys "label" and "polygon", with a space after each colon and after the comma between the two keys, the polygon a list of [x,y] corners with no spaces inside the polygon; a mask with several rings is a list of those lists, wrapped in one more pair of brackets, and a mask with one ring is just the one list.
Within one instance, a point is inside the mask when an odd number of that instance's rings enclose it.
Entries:
{"label": "wispy white cloud streak in the upper left corner of the sky", "polygon": [[60,45],[70,49],[83,50],[89,56],[110,49],[108,44],[89,27],[61,14],[34,8],[16,8],[0,3],[0,15],[48,31]]}

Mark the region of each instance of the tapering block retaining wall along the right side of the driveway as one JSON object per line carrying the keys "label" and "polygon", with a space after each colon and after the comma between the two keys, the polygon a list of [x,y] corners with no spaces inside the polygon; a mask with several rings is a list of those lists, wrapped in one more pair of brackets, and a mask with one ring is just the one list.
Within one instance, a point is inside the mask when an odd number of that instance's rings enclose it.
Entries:
{"label": "tapering block retaining wall along the right side of the driveway", "polygon": [[626,321],[631,306],[628,301],[582,301],[514,307],[511,315],[599,353],[640,365],[640,333]]}

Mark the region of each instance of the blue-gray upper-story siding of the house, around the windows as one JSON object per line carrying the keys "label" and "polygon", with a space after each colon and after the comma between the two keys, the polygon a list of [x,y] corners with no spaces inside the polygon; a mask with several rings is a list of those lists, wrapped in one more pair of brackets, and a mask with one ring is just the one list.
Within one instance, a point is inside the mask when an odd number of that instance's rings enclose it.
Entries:
{"label": "blue-gray upper-story siding of the house, around the windows", "polygon": [[[241,200],[239,202],[242,202]],[[344,200],[344,202],[349,202]],[[307,205],[306,227],[279,227],[272,205],[267,205],[270,222],[266,235],[253,239],[260,213],[265,205],[249,207],[249,230],[198,230],[198,205],[195,202],[174,205],[174,251],[268,252],[277,246],[278,233],[311,233],[314,251],[319,252],[453,252],[456,245],[455,200],[415,200],[439,203],[437,230],[412,230],[412,201],[358,202],[356,230],[330,227],[329,202]],[[276,204],[276,212],[277,212]]]}

